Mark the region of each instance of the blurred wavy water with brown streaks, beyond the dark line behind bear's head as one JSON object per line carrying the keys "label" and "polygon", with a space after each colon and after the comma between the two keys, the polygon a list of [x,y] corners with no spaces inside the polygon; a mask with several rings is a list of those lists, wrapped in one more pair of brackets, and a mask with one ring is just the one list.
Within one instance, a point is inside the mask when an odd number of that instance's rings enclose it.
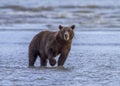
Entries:
{"label": "blurred wavy water with brown streaks, beyond the dark line behind bear's head", "polygon": [[119,0],[0,0],[0,30],[119,30]]}

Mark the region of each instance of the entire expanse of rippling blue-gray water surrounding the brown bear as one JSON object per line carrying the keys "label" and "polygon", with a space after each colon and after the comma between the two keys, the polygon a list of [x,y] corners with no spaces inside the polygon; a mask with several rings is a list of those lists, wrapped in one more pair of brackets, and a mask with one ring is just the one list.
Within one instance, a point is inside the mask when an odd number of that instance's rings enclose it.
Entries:
{"label": "entire expanse of rippling blue-gray water surrounding the brown bear", "polygon": [[[28,68],[33,36],[60,24],[76,25],[65,69]],[[0,0],[0,86],[120,86],[119,39],[119,0]]]}

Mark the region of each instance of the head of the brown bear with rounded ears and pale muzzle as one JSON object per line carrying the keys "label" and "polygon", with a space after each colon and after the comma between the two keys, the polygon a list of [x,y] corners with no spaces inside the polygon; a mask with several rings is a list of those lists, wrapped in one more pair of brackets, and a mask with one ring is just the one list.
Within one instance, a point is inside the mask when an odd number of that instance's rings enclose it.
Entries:
{"label": "head of the brown bear with rounded ears and pale muzzle", "polygon": [[59,36],[64,41],[72,40],[74,37],[74,30],[75,25],[72,25],[70,27],[64,27],[62,25],[59,25]]}

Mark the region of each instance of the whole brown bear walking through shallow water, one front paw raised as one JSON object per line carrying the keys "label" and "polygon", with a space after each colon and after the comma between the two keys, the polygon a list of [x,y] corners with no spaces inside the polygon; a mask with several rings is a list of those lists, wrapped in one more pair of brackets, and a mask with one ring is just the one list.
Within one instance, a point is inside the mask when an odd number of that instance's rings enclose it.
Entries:
{"label": "whole brown bear walking through shallow water, one front paw raised", "polygon": [[55,57],[58,58],[58,66],[63,66],[71,49],[74,37],[75,25],[64,27],[59,25],[59,31],[42,31],[38,33],[29,45],[29,66],[33,67],[37,57],[40,57],[41,66],[47,65],[47,60],[51,66],[56,64]]}

